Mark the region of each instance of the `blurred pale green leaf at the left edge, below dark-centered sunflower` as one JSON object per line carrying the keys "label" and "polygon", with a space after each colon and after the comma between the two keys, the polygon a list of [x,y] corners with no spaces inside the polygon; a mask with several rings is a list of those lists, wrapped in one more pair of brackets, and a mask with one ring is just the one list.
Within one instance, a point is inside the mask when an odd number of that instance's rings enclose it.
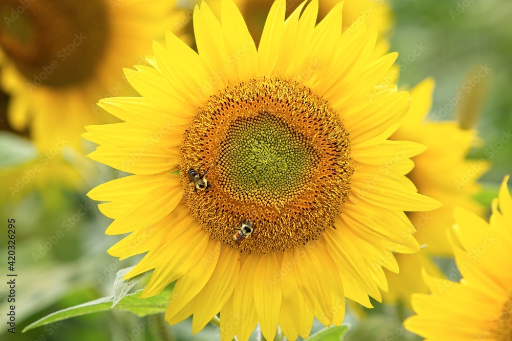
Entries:
{"label": "blurred pale green leaf at the left edge, below dark-centered sunflower", "polygon": [[8,131],[0,132],[0,168],[23,165],[37,157],[37,148],[29,140]]}

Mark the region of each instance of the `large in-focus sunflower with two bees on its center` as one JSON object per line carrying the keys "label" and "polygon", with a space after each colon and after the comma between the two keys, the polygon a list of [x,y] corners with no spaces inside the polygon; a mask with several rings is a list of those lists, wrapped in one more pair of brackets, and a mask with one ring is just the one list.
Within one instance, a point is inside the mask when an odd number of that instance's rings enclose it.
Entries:
{"label": "large in-focus sunflower with two bees on its center", "polygon": [[91,158],[134,174],[89,196],[108,201],[106,234],[130,233],[111,255],[147,253],[125,277],[154,269],[142,297],[176,281],[169,324],[193,314],[196,333],[220,312],[222,340],[340,325],[345,297],[371,307],[393,252],[419,250],[403,211],[440,206],[404,175],[424,147],[387,140],[409,93],[369,96],[397,55],[372,57],[375,28],[342,34],[342,4],[316,26],[305,5],[285,20],[276,1],[256,49],[231,0],[222,23],[202,3],[199,52],[168,32],[154,67],[125,70],[142,97],[100,101],[125,122],[84,134]]}

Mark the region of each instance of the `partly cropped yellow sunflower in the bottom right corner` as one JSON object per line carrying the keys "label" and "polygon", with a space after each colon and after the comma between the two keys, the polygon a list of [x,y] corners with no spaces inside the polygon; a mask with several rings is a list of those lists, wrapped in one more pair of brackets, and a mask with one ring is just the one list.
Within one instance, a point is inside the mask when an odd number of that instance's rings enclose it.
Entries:
{"label": "partly cropped yellow sunflower in the bottom right corner", "polygon": [[493,201],[489,223],[455,209],[456,240],[449,235],[449,241],[463,279],[456,283],[424,271],[432,294],[413,295],[417,315],[404,322],[410,331],[432,341],[512,339],[512,198],[507,180],[505,176]]}

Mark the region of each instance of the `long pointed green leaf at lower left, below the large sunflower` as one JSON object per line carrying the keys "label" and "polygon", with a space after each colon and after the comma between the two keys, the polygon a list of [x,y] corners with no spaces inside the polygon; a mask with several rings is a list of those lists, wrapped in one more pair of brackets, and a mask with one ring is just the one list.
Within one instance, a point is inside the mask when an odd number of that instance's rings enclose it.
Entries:
{"label": "long pointed green leaf at lower left, below the large sunflower", "polygon": [[34,329],[36,327],[48,325],[56,321],[67,320],[70,317],[91,314],[94,312],[107,311],[107,310],[124,310],[130,311],[138,316],[146,316],[165,312],[167,304],[169,303],[170,295],[173,293],[174,283],[169,284],[160,294],[141,299],[140,295],[143,290],[135,291],[134,293],[125,295],[125,297],[116,305],[111,308],[114,302],[114,296],[103,297],[91,302],[83,303],[71,308],[62,309],[51,313],[42,319],[28,325],[23,329],[23,332]]}

